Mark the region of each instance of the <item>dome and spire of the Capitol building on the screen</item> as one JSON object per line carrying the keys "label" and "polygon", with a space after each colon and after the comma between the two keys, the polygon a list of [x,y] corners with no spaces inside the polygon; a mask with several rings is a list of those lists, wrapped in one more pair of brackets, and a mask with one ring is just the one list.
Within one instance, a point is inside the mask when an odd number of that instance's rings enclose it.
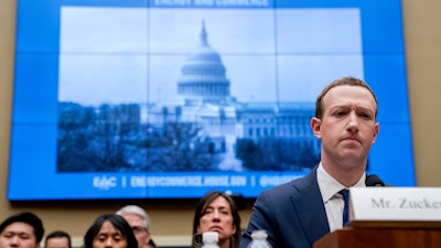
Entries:
{"label": "dome and spire of the Capitol building on the screen", "polygon": [[181,68],[178,94],[187,104],[223,103],[229,98],[229,79],[219,54],[207,41],[202,22],[201,44]]}

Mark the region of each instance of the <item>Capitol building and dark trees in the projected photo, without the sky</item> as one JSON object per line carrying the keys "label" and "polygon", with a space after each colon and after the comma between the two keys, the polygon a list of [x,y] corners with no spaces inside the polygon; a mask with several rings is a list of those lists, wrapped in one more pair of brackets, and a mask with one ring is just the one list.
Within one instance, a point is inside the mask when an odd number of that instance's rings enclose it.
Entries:
{"label": "Capitol building and dark trees in the projected photo, without the sky", "polygon": [[[302,171],[315,165],[320,141],[310,128],[314,99],[237,98],[232,88],[243,82],[228,77],[204,21],[198,35],[200,44],[180,64],[172,98],[97,105],[60,100],[57,171]],[[243,66],[241,76],[252,73],[249,65]],[[271,80],[276,83],[268,82],[268,88],[252,90],[273,91],[280,83]]]}

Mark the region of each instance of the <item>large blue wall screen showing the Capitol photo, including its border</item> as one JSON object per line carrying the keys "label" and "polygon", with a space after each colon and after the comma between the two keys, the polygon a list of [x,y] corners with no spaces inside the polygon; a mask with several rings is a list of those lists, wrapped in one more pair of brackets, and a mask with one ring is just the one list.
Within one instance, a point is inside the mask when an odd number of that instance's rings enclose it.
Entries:
{"label": "large blue wall screen showing the Capitol photo, including its border", "polygon": [[367,173],[415,185],[401,2],[18,0],[9,201],[256,197],[320,161],[324,85],[379,101]]}

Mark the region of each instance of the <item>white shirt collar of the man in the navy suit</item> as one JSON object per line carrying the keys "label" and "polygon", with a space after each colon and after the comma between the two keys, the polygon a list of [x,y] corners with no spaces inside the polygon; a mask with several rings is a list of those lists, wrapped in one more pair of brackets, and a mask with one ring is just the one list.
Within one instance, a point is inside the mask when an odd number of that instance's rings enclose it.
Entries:
{"label": "white shirt collar of the man in the navy suit", "polygon": [[[335,195],[338,191],[345,188],[345,186],[334,177],[332,177],[322,166],[322,162],[320,162],[318,168],[318,183],[320,187],[320,192],[322,193],[323,203],[326,203],[331,200],[332,196]],[[362,177],[354,185],[354,187],[366,187],[365,184],[366,173],[363,173]]]}

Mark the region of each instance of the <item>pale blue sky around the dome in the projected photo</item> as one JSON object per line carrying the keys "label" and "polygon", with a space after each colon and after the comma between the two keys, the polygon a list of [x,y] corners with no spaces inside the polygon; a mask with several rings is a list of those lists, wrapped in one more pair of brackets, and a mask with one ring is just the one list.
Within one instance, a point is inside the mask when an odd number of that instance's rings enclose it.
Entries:
{"label": "pale blue sky around the dome in the projected photo", "polygon": [[363,78],[355,8],[63,7],[58,100],[94,106],[173,100],[203,22],[239,101],[313,101],[335,78]]}

